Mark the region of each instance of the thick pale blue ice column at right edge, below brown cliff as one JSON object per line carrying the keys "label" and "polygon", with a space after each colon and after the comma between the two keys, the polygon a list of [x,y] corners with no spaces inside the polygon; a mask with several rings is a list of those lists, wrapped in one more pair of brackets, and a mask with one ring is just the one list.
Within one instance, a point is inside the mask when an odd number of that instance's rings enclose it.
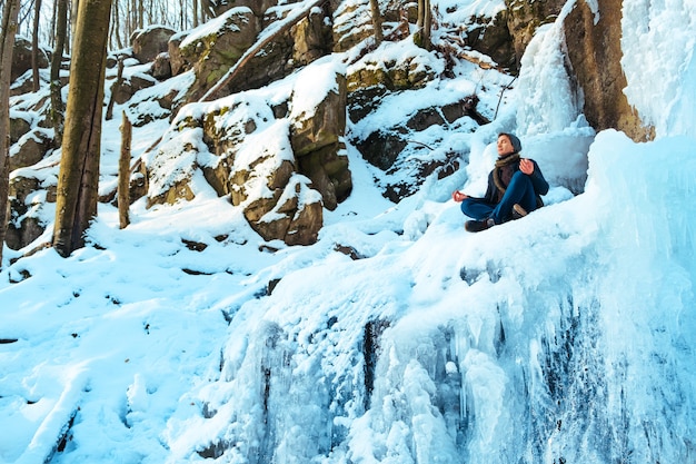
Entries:
{"label": "thick pale blue ice column at right edge, below brown cliff", "polygon": [[693,142],[605,132],[590,152],[608,418],[636,462],[695,458]]}

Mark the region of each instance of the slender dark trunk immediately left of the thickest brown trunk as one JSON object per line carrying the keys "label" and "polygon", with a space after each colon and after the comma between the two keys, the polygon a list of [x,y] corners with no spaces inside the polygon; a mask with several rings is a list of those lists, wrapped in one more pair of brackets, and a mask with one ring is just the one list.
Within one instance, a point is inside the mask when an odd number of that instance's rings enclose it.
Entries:
{"label": "slender dark trunk immediately left of the thickest brown trunk", "polygon": [[60,69],[68,34],[68,0],[56,0],[56,47],[51,57],[51,122],[53,125],[53,142],[59,147],[63,137],[64,110]]}

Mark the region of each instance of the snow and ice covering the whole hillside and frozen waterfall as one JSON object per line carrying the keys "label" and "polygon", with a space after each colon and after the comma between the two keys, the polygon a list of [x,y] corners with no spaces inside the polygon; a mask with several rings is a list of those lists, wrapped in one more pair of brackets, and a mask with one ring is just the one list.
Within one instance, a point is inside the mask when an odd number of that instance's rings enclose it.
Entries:
{"label": "snow and ice covering the whole hillside and frozen waterfall", "polygon": [[[695,463],[695,8],[624,1],[626,95],[655,141],[587,126],[556,23],[494,122],[418,135],[460,168],[398,205],[351,138],[473,90],[493,117],[511,78],[458,62],[349,122],[352,194],[315,245],[264,241],[201,181],[191,201],[140,199],[122,230],[100,204],[69,258],[6,248],[0,462]],[[106,190],[119,124],[105,122]],[[168,128],[136,128],[133,154]],[[469,234],[450,192],[483,192],[499,131],[549,179],[547,206]]]}

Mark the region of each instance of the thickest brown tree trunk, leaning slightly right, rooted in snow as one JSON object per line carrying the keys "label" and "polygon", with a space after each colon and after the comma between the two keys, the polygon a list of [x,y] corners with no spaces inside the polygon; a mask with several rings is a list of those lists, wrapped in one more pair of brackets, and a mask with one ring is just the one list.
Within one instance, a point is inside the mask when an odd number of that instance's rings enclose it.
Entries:
{"label": "thickest brown tree trunk, leaning slightly right, rooted in snow", "polygon": [[63,257],[84,245],[84,231],[97,216],[110,14],[111,0],[80,0],[53,229],[53,247]]}

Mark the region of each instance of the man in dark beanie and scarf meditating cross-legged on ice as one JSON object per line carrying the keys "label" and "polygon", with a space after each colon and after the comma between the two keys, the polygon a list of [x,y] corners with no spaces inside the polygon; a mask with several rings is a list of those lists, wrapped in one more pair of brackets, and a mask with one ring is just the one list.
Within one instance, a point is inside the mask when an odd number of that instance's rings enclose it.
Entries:
{"label": "man in dark beanie and scarf meditating cross-legged on ice", "polygon": [[498,135],[498,160],[488,175],[484,198],[469,197],[455,190],[451,197],[461,201],[461,213],[468,231],[486,230],[497,224],[526,216],[544,205],[541,195],[548,192],[548,182],[534,159],[520,158],[521,142],[513,134]]}

